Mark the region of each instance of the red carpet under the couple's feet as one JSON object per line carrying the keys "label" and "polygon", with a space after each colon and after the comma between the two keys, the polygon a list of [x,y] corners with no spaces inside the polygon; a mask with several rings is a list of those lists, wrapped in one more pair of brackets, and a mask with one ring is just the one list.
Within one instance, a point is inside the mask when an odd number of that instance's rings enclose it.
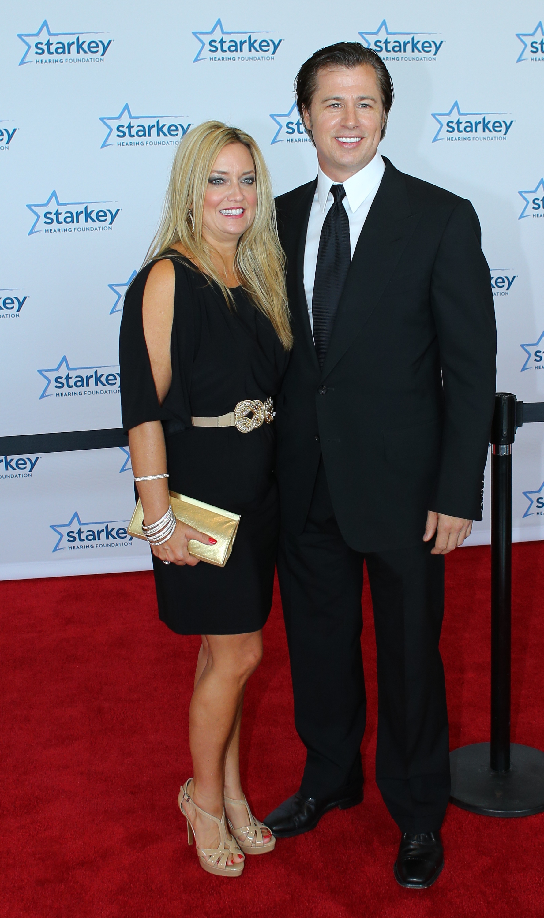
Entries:
{"label": "red carpet under the couple's feet", "polygon": [[[447,559],[442,651],[451,744],[489,736],[489,548]],[[544,747],[544,543],[514,547],[513,740]],[[399,834],[376,788],[375,646],[368,590],[365,802],[248,858],[241,879],[198,867],[176,795],[189,776],[197,638],[156,617],[151,574],[3,585],[0,914],[8,918],[436,918],[544,915],[544,815],[449,807],[446,867],[423,892],[392,874]],[[261,818],[298,787],[277,601],[247,693],[243,769]]]}

